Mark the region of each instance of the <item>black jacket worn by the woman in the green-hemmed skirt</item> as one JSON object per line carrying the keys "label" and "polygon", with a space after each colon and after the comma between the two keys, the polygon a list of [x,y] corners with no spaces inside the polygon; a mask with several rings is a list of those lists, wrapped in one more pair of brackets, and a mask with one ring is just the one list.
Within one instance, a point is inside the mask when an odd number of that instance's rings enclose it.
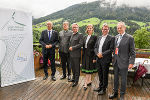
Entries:
{"label": "black jacket worn by the woman in the green-hemmed skirt", "polygon": [[[85,36],[83,39],[83,56],[85,53],[86,39],[87,39],[87,36]],[[94,57],[95,57],[94,46],[95,46],[96,40],[97,40],[97,37],[94,35],[91,35],[91,37],[87,43],[86,53],[87,53],[87,56],[92,57],[92,59],[94,59]]]}

